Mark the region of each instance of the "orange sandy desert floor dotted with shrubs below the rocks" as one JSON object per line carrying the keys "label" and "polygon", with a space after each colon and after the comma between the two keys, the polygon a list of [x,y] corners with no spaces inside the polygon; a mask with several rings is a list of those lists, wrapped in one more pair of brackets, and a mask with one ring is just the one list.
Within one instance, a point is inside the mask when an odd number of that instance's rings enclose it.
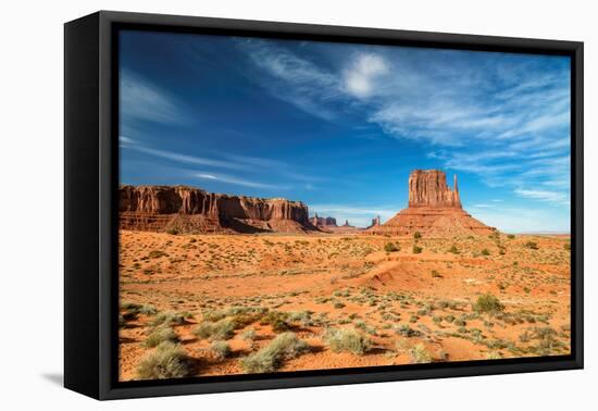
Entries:
{"label": "orange sandy desert floor dotted with shrubs below the rocks", "polygon": [[[120,239],[122,381],[570,350],[568,236]],[[192,366],[139,371],[164,339]]]}

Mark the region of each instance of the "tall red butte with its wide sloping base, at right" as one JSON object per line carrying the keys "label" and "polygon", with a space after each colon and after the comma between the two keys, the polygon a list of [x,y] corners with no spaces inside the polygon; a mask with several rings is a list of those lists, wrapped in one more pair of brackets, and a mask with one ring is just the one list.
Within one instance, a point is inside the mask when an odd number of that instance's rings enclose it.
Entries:
{"label": "tall red butte with its wide sloping base, at right", "polygon": [[413,171],[409,176],[408,208],[367,229],[371,234],[399,236],[415,232],[428,236],[488,235],[495,231],[463,210],[457,176],[450,189],[445,173],[439,170]]}

